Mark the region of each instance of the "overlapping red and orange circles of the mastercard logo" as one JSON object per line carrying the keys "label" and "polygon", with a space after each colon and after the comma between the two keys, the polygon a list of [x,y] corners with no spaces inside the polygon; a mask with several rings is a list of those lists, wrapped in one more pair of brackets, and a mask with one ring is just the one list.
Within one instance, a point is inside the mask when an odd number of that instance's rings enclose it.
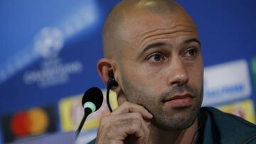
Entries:
{"label": "overlapping red and orange circles of the mastercard logo", "polygon": [[44,109],[33,108],[19,111],[11,116],[11,131],[17,137],[39,135],[47,131],[49,125],[48,114]]}

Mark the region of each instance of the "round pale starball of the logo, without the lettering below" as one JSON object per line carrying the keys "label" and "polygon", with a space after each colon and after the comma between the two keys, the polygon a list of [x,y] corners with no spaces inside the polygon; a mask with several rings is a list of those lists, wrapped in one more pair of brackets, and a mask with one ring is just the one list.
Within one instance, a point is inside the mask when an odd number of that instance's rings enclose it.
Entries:
{"label": "round pale starball of the logo, without the lettering below", "polygon": [[56,57],[63,41],[63,33],[58,28],[46,27],[36,35],[34,48],[44,58]]}

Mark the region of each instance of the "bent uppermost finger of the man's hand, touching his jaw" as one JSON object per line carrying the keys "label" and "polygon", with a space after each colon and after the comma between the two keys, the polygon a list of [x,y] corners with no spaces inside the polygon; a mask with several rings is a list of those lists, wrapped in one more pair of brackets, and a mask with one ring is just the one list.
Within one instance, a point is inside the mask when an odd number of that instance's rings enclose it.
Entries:
{"label": "bent uppermost finger of the man's hand, touching his jaw", "polygon": [[145,119],[151,119],[153,118],[153,115],[149,113],[143,106],[139,104],[133,104],[130,102],[124,102],[121,104],[117,109],[115,109],[111,115],[117,115],[120,113],[131,113],[131,112],[139,112],[142,114],[142,117]]}

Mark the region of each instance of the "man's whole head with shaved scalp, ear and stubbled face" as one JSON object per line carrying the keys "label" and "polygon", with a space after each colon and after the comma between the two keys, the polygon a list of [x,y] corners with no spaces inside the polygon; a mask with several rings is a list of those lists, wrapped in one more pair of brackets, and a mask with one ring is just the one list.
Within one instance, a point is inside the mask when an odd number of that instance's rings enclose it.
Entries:
{"label": "man's whole head with shaved scalp, ear and stubbled face", "polygon": [[[107,17],[102,37],[105,58],[98,70],[105,83],[114,74],[118,104],[144,106],[158,130],[192,126],[203,97],[203,58],[196,24],[181,6],[123,0]],[[184,94],[191,101],[169,101]]]}

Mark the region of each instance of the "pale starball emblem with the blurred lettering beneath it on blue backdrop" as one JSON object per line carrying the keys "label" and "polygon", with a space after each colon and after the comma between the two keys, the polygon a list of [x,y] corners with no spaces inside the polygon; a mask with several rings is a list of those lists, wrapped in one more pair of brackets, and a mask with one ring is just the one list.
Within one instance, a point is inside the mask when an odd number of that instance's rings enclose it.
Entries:
{"label": "pale starball emblem with the blurred lettering beneath it on blue backdrop", "polygon": [[64,36],[59,28],[43,28],[35,36],[34,43],[34,50],[43,57],[41,67],[24,72],[23,82],[37,84],[43,89],[68,83],[71,74],[80,74],[83,69],[80,60],[63,62],[58,56],[63,45]]}

